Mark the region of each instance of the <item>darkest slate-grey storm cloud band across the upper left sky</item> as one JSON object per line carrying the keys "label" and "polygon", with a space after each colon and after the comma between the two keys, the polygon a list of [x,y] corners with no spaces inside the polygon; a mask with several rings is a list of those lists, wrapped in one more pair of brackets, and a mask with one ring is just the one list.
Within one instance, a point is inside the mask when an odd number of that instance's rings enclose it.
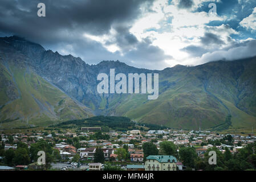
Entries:
{"label": "darkest slate-grey storm cloud band across the upper left sky", "polygon": [[[46,17],[37,16],[37,4],[46,5]],[[1,0],[0,30],[44,41],[62,39],[67,31],[106,34],[113,23],[131,23],[140,15],[140,5],[152,0],[62,0],[10,1]],[[39,38],[40,39],[40,38]],[[42,41],[42,40],[41,40]]]}

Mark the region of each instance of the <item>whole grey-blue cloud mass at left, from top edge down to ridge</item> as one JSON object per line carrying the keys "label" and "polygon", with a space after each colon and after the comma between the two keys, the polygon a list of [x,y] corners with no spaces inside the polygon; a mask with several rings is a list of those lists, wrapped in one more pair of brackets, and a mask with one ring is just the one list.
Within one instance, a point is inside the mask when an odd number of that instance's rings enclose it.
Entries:
{"label": "whole grey-blue cloud mass at left, from top edge down to ridge", "polygon": [[[148,11],[154,0],[34,0],[0,2],[0,35],[18,35],[46,49],[71,53],[89,64],[101,60],[121,60],[128,64],[156,64],[169,59],[152,42],[139,42],[129,32],[132,23],[141,16],[141,6]],[[37,5],[46,5],[46,17],[37,16]],[[116,44],[120,51],[109,52],[103,44],[85,38],[84,33],[108,35],[113,28],[117,34],[106,45]],[[144,63],[143,63],[144,61]],[[134,64],[133,64],[134,65]]]}

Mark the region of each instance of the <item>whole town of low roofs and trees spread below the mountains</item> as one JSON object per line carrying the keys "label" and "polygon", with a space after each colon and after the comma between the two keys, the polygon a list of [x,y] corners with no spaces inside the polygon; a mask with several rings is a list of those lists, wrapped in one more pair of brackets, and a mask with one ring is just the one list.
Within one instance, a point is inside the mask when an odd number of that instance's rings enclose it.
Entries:
{"label": "whole town of low roofs and trees spread below the mountains", "polygon": [[[101,127],[36,127],[2,131],[0,170],[178,171],[255,170],[253,134],[216,131],[103,131]],[[38,163],[38,151],[46,164]],[[217,154],[211,165],[209,152]]]}

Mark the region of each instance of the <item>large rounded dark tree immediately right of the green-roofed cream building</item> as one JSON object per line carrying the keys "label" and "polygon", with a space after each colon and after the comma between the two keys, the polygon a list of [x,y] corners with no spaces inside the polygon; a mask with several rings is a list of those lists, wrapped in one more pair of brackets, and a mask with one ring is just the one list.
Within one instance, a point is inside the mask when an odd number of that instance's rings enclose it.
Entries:
{"label": "large rounded dark tree immediately right of the green-roofed cream building", "polygon": [[184,166],[195,167],[195,160],[197,159],[196,150],[193,147],[182,147],[179,152],[180,158]]}

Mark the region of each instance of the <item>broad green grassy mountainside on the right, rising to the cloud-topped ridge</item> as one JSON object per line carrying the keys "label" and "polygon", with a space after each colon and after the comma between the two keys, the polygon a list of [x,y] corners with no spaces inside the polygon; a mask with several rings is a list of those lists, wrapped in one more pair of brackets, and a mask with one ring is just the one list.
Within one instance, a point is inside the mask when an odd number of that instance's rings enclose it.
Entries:
{"label": "broad green grassy mountainside on the right, rising to the cloud-topped ridge", "polygon": [[255,62],[254,58],[168,68],[159,73],[157,100],[149,101],[144,94],[113,96],[108,98],[107,111],[144,123],[195,130],[221,125],[230,114],[229,128],[255,127]]}

